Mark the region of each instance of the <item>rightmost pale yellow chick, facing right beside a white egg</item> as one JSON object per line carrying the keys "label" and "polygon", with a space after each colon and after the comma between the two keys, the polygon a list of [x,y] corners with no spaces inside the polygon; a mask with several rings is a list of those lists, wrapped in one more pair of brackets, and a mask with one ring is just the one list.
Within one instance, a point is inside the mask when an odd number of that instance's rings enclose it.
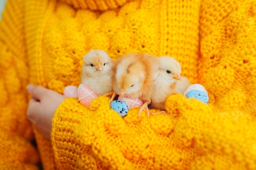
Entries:
{"label": "rightmost pale yellow chick, facing right beside a white egg", "polygon": [[166,97],[175,93],[184,93],[190,86],[189,79],[181,77],[181,66],[173,57],[158,57],[160,61],[158,75],[154,82],[150,108],[164,110]]}

